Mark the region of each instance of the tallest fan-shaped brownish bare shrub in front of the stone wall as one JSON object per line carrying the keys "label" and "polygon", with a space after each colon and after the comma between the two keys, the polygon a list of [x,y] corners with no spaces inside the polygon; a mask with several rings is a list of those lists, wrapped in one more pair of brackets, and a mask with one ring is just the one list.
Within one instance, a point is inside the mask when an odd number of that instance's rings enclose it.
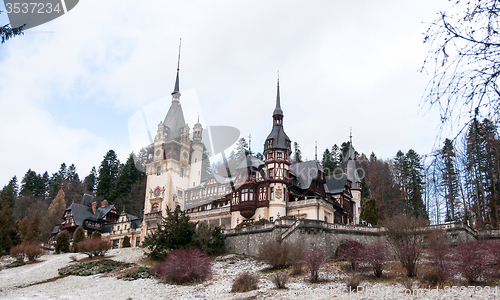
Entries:
{"label": "tallest fan-shaped brownish bare shrub in front of the stone wall", "polygon": [[387,239],[408,277],[417,275],[417,263],[425,245],[425,236],[429,233],[425,229],[427,224],[425,219],[404,215],[383,222]]}

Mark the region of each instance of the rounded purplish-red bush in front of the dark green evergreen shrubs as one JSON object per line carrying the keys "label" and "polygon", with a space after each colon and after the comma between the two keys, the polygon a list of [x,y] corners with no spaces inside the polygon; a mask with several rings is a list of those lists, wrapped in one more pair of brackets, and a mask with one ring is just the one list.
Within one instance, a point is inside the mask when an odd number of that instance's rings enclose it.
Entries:
{"label": "rounded purplish-red bush in front of the dark green evergreen shrubs", "polygon": [[203,281],[211,273],[212,260],[197,248],[174,250],[151,270],[160,281],[176,284]]}

